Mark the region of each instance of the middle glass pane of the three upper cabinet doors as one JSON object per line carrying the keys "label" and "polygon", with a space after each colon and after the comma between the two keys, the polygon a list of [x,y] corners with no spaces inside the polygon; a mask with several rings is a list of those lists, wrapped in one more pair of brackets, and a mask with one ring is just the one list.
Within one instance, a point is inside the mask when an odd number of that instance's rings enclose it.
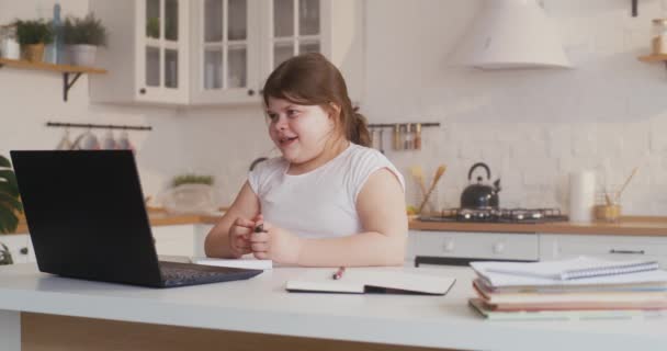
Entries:
{"label": "middle glass pane of the three upper cabinet doors", "polygon": [[201,49],[203,90],[247,88],[248,0],[204,0]]}

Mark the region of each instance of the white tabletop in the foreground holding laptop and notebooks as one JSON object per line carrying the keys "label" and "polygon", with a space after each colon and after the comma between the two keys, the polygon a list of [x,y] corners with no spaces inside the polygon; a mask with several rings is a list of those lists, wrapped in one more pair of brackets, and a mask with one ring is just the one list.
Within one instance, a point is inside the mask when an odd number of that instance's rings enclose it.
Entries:
{"label": "white tabletop in the foreground holding laptop and notebooks", "polygon": [[0,325],[20,322],[4,310],[463,350],[657,350],[667,344],[667,318],[485,320],[467,306],[474,296],[468,268],[372,269],[455,278],[445,296],[287,293],[285,282],[307,270],[316,269],[278,267],[247,281],[160,290],[58,278],[30,263],[1,267]]}

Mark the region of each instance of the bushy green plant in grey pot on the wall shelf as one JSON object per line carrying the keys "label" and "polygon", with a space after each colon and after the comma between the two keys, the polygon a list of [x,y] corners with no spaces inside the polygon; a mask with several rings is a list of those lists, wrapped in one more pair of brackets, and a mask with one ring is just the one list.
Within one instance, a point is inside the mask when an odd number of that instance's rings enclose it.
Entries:
{"label": "bushy green plant in grey pot on the wall shelf", "polygon": [[69,47],[70,63],[77,66],[94,66],[98,46],[106,46],[106,29],[92,13],[83,19],[67,18],[63,37]]}

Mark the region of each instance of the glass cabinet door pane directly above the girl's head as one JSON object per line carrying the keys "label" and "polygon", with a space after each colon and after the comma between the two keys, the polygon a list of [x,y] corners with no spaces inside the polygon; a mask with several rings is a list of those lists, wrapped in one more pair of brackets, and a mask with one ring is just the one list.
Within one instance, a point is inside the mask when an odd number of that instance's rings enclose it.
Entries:
{"label": "glass cabinet door pane directly above the girl's head", "polygon": [[273,0],[272,68],[303,53],[321,52],[320,0]]}

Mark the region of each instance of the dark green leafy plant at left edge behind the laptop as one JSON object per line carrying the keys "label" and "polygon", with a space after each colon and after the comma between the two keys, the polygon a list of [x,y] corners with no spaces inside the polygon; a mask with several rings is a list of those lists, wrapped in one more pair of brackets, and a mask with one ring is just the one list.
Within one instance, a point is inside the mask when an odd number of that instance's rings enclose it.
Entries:
{"label": "dark green leafy plant at left edge behind the laptop", "polygon": [[16,176],[11,167],[12,163],[0,156],[0,233],[16,230],[19,226],[16,213],[23,213]]}

